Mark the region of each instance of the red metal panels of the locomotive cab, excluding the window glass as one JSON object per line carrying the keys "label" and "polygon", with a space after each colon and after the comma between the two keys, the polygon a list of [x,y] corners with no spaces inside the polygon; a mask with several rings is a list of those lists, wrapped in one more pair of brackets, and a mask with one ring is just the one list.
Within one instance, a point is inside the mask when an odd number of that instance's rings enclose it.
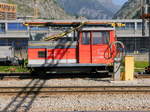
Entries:
{"label": "red metal panels of the locomotive cab, excluding the window glass", "polygon": [[[105,31],[103,31],[105,32]],[[96,43],[94,44],[94,33],[100,33],[99,31],[90,31],[89,33],[89,43],[83,44],[83,33],[80,32],[80,42],[79,42],[79,63],[102,63],[102,64],[110,64],[113,63],[113,58],[107,59],[106,54],[109,53],[109,43],[115,41],[114,31],[107,31],[109,33],[108,43]],[[100,35],[98,35],[100,36]],[[104,37],[107,38],[107,37]],[[100,39],[100,38],[98,38]],[[101,39],[102,40],[102,39]],[[106,53],[106,54],[105,54]],[[104,55],[105,54],[105,55]]]}

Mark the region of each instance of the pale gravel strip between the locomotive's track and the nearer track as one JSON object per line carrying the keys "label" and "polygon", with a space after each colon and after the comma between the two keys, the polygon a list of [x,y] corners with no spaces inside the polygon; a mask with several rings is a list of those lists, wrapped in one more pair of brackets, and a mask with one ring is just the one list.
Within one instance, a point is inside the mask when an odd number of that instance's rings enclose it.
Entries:
{"label": "pale gravel strip between the locomotive's track and the nearer track", "polygon": [[[39,83],[39,79],[8,79],[0,80],[0,87],[9,86],[29,86]],[[150,79],[135,79],[133,81],[112,81],[108,79],[96,79],[96,78],[73,78],[73,79],[49,79],[44,81],[43,86],[133,86],[133,85],[150,85]]]}

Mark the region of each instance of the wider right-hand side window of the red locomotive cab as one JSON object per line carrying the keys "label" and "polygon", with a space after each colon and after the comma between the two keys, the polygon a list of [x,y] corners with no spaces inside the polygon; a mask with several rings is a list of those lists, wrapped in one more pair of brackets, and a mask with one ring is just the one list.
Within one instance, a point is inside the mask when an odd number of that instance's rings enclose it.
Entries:
{"label": "wider right-hand side window of the red locomotive cab", "polygon": [[92,44],[108,44],[109,43],[109,32],[93,32],[92,33]]}

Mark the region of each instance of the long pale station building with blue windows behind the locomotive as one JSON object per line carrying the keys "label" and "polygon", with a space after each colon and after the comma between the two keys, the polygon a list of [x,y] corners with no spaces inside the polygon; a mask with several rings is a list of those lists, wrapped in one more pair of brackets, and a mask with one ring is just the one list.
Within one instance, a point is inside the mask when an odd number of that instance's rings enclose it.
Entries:
{"label": "long pale station building with blue windows behind the locomotive", "polygon": [[[33,20],[28,20],[28,22],[33,22]],[[34,20],[35,22],[54,22],[57,20]],[[65,20],[63,20],[65,21]],[[68,22],[68,20],[66,20]],[[69,20],[77,21],[77,20]],[[80,21],[80,20],[78,20]],[[114,23],[123,23],[124,27],[115,27],[117,39],[122,41],[126,46],[126,51],[128,53],[148,52],[149,48],[149,36],[148,36],[148,27],[146,27],[146,33],[143,36],[142,31],[142,20],[141,19],[132,19],[132,20],[89,20],[94,22],[114,22]],[[25,26],[23,23],[27,22],[26,20],[0,20],[0,45],[14,46],[16,52],[20,50],[25,52],[28,47],[29,40],[38,40],[39,38],[45,36],[50,32],[50,27],[29,27]],[[22,53],[24,54],[24,53]]]}

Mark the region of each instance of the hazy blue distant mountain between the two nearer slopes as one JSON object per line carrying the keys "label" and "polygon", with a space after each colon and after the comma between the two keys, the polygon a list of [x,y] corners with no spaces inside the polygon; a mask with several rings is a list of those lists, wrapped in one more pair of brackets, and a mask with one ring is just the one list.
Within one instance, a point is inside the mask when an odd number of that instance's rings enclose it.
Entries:
{"label": "hazy blue distant mountain between the two nearer slopes", "polygon": [[60,7],[76,16],[88,19],[110,19],[118,10],[112,0],[57,0]]}

